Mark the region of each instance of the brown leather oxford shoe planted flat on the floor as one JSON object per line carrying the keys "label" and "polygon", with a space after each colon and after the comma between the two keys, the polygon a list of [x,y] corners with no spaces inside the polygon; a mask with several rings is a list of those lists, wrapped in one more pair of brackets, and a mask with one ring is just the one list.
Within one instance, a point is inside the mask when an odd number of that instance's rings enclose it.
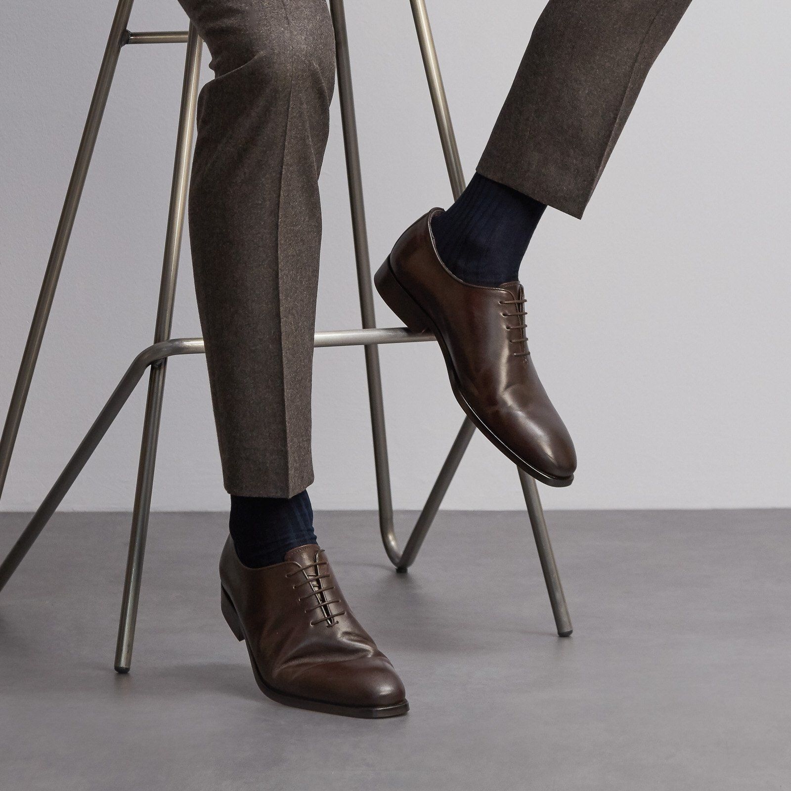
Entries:
{"label": "brown leather oxford shoe planted flat on the floor", "polygon": [[352,615],[327,556],[297,547],[263,569],[243,566],[225,542],[222,614],[247,644],[255,681],[268,698],[346,717],[398,717],[409,710],[390,660]]}

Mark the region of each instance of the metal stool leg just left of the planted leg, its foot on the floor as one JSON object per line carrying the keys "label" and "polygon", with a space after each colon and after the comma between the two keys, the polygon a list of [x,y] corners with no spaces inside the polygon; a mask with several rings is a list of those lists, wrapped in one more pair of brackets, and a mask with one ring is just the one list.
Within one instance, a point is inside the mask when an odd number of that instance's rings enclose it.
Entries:
{"label": "metal stool leg just left of the planted leg, its foot on the floor", "polygon": [[[184,230],[184,209],[187,203],[187,185],[192,153],[192,134],[195,127],[195,104],[198,97],[202,41],[193,25],[187,39],[187,58],[184,66],[184,85],[181,92],[179,131],[176,138],[176,161],[173,165],[173,180],[168,209],[168,229],[165,235],[165,257],[162,264],[162,279],[157,306],[157,324],[154,343],[170,337],[173,317],[173,301],[176,296],[176,276],[181,252],[181,237]],[[140,448],[137,489],[134,493],[134,511],[129,538],[127,572],[123,581],[123,600],[118,626],[118,641],[115,644],[115,670],[129,672],[134,642],[134,626],[137,620],[143,554],[146,551],[151,510],[154,464],[157,459],[157,439],[162,414],[162,397],[165,392],[165,359],[151,366],[146,417],[143,422],[143,437]]]}

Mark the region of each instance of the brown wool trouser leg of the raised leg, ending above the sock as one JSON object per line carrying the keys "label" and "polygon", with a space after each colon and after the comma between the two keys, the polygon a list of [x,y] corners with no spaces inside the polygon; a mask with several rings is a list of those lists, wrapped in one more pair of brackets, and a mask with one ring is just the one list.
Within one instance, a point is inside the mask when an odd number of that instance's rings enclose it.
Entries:
{"label": "brown wool trouser leg of the raised leg, ending above the sock", "polygon": [[477,171],[580,218],[691,0],[551,0]]}

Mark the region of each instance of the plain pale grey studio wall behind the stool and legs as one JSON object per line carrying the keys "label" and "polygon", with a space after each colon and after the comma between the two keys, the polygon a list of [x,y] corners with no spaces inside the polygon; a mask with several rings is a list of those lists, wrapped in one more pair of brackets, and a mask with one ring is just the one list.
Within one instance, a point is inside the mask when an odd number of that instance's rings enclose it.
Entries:
{"label": "plain pale grey studio wall behind the stool and legs", "polygon": [[[450,190],[407,0],[347,2],[373,264]],[[543,6],[430,0],[467,177]],[[0,411],[5,416],[115,3],[7,3],[0,26]],[[695,0],[583,221],[547,211],[523,267],[534,359],[577,444],[562,509],[791,505],[791,6]],[[131,29],[185,29],[137,0]],[[204,77],[208,55],[204,53]],[[121,54],[0,508],[38,505],[152,340],[184,46]],[[322,175],[319,329],[359,326],[337,97]],[[397,324],[377,298],[382,326]],[[174,335],[199,335],[185,238]],[[419,508],[462,414],[433,344],[381,350],[397,508]],[[316,351],[317,509],[376,506],[358,348]],[[67,509],[131,509],[145,384]],[[224,509],[204,361],[168,366],[153,507]],[[475,437],[445,501],[518,509]]]}

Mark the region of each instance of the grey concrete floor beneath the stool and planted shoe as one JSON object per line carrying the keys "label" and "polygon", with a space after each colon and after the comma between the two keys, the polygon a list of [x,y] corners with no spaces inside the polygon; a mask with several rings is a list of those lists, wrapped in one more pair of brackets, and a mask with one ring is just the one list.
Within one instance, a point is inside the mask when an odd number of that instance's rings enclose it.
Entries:
{"label": "grey concrete floor beneath the stool and planted shoe", "polygon": [[[791,788],[791,513],[548,521],[567,639],[524,513],[441,513],[408,575],[372,513],[317,515],[407,684],[407,717],[368,722],[259,693],[218,607],[217,514],[154,515],[117,676],[129,517],[57,515],[0,596],[0,788]],[[0,516],[3,553],[23,524]]]}

